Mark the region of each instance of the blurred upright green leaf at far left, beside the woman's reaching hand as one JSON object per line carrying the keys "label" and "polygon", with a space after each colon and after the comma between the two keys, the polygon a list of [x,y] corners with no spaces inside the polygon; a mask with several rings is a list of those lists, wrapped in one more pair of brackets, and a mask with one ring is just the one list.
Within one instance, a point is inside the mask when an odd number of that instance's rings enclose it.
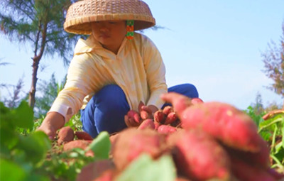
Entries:
{"label": "blurred upright green leaf at far left, beside the woman's reaching hand", "polygon": [[21,104],[12,110],[13,121],[20,128],[33,128],[33,109],[28,106],[28,103],[22,101]]}

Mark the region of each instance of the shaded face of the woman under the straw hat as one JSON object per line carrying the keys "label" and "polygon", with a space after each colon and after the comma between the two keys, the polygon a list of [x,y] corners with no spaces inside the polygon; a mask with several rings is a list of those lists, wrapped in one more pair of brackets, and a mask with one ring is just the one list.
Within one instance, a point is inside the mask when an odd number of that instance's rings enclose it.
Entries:
{"label": "shaded face of the woman under the straw hat", "polygon": [[126,35],[126,21],[97,21],[92,23],[92,35],[108,50],[119,50]]}

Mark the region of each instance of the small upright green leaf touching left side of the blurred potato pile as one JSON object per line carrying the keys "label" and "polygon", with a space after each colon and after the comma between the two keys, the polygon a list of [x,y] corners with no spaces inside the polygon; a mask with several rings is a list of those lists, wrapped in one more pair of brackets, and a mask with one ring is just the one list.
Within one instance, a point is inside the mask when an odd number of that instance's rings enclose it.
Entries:
{"label": "small upright green leaf touching left side of the blurred potato pile", "polygon": [[98,159],[107,159],[109,158],[109,151],[111,149],[111,141],[109,140],[109,133],[107,131],[102,131],[99,133],[97,138],[94,138],[91,144],[89,144],[88,150],[94,152],[94,156]]}

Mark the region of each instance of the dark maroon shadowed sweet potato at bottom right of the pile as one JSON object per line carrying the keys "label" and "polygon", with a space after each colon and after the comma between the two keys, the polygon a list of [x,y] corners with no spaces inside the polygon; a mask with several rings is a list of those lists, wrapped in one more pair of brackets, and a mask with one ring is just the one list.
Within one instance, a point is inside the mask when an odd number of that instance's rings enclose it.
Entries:
{"label": "dark maroon shadowed sweet potato at bottom right of the pile", "polygon": [[231,158],[231,170],[236,178],[241,181],[276,181],[268,172],[256,165],[250,165],[245,160],[236,157]]}

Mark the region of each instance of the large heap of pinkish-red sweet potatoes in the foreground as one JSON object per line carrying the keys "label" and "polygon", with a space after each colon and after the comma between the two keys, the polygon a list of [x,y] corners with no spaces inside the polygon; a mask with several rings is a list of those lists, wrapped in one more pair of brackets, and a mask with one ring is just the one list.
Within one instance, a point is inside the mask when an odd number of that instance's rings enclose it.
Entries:
{"label": "large heap of pinkish-red sweet potatoes in the foreground", "polygon": [[[113,164],[107,163],[111,166],[87,180],[115,180],[142,153],[153,159],[170,155],[178,175],[175,181],[284,179],[271,168],[268,144],[243,111],[176,93],[163,94],[162,99],[173,106],[153,115],[140,108],[129,111],[125,119],[129,128],[111,136],[109,161]],[[94,172],[94,168],[83,168],[78,180],[88,169]]]}

